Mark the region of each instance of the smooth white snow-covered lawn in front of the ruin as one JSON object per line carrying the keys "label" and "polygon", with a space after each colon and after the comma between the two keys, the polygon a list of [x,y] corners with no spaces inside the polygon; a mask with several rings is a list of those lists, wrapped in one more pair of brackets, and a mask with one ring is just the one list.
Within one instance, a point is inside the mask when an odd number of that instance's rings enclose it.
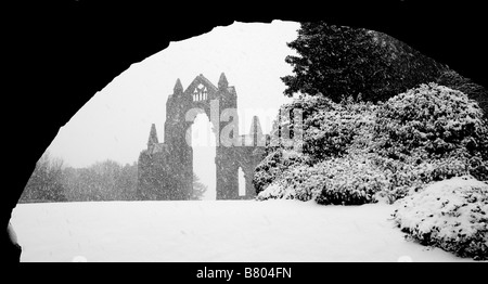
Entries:
{"label": "smooth white snow-covered lawn in front of the ruin", "polygon": [[406,241],[393,205],[297,201],[18,204],[21,261],[473,261]]}

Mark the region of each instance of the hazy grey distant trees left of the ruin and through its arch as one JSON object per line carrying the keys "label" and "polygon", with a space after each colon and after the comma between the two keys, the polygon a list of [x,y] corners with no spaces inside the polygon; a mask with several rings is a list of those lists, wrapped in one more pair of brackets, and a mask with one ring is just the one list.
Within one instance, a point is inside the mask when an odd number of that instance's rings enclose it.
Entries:
{"label": "hazy grey distant trees left of the ruin and through its arch", "polygon": [[[206,191],[197,177],[193,179],[192,199]],[[36,164],[20,203],[136,201],[138,164],[121,165],[107,159],[85,168],[65,166],[61,158],[46,152]]]}

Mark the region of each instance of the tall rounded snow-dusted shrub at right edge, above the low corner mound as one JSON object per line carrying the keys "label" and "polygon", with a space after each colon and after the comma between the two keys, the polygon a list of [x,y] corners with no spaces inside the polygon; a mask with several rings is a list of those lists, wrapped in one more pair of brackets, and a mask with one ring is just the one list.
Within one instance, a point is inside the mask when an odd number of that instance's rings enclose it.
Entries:
{"label": "tall rounded snow-dusted shrub at right edge, above the low corner mound", "polygon": [[488,126],[466,94],[422,85],[384,103],[374,127],[375,151],[404,163],[457,157],[477,179],[488,179]]}

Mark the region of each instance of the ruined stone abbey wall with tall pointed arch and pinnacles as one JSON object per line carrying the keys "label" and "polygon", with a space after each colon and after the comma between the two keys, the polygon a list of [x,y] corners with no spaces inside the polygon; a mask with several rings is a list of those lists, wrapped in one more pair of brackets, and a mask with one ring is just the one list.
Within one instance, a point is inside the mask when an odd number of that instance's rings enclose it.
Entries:
{"label": "ruined stone abbey wall with tall pointed arch and pinnacles", "polygon": [[[252,184],[254,168],[261,160],[265,146],[257,143],[262,137],[257,117],[253,120],[253,143],[240,143],[246,135],[239,134],[237,95],[222,73],[218,86],[198,75],[183,90],[178,79],[174,93],[166,102],[164,143],[159,143],[155,125],[152,126],[147,149],[139,156],[138,195],[140,199],[189,199],[192,194],[193,150],[189,131],[195,117],[205,113],[216,135],[216,198],[240,199],[255,196]],[[246,194],[239,195],[241,167],[246,180]]]}

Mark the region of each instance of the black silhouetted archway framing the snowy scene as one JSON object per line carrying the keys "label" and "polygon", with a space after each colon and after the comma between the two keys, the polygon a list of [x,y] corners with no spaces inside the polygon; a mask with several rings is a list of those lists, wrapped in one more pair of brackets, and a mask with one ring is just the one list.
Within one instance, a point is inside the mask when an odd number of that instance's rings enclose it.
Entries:
{"label": "black silhouetted archway framing the snowy scene", "polygon": [[[325,20],[365,27],[398,38],[424,54],[487,87],[485,9],[483,3],[435,5],[389,1],[382,5],[320,7],[298,1],[266,7],[262,1],[172,2],[167,7],[99,7],[72,1],[49,7],[22,3],[5,9],[2,35],[4,142],[1,225],[36,162],[60,127],[114,77],[170,41],[178,41],[234,21]],[[320,9],[318,9],[320,8]],[[7,77],[5,77],[7,76]],[[2,251],[12,247],[5,231]],[[22,245],[22,244],[21,244]],[[5,261],[18,260],[2,254]]]}

